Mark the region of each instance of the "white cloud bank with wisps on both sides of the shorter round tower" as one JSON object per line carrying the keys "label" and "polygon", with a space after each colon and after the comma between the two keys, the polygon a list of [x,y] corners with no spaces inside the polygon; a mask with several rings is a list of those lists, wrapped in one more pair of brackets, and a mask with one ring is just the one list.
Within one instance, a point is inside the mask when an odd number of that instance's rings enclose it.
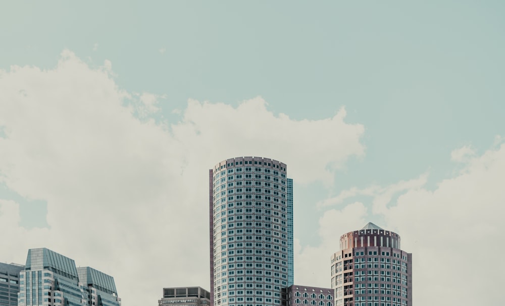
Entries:
{"label": "white cloud bank with wisps on both sides of the shorter round tower", "polygon": [[[463,156],[470,151],[464,152]],[[423,174],[387,187],[351,189],[324,202],[345,203],[352,196],[372,195],[376,218],[385,220],[377,225],[399,233],[402,249],[413,253],[416,304],[432,304],[434,300],[456,305],[505,303],[499,288],[500,275],[505,272],[501,258],[505,251],[505,144],[496,143],[481,156],[465,160],[463,171],[439,182],[434,191],[424,187]],[[399,197],[392,201],[395,194]],[[299,274],[308,277],[311,284],[328,286],[329,278],[312,279],[300,262],[327,271],[328,260],[321,264],[323,256],[318,254],[338,249],[340,235],[360,229],[366,223],[364,218],[365,211],[357,203],[326,211],[319,227],[322,243],[301,250],[298,247],[295,266]],[[328,237],[331,234],[333,239]],[[315,258],[319,260],[311,261]]]}

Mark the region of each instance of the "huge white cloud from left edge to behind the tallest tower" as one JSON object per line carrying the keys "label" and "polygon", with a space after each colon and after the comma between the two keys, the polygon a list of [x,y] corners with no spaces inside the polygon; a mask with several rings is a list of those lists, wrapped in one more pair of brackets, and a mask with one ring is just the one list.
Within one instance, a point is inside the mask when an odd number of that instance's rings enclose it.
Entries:
{"label": "huge white cloud from left edge to behind the tallest tower", "polygon": [[2,200],[12,234],[0,260],[53,249],[113,275],[125,305],[155,304],[164,286],[209,289],[208,169],[257,155],[286,162],[298,182],[331,182],[363,154],[363,127],[346,124],[344,109],[296,121],[261,98],[236,108],[190,100],[166,126],[149,119],[159,96],[125,92],[113,76],[110,62],[91,69],[68,50],[52,70],[0,71],[0,182],[46,201],[50,226],[19,227],[18,205]]}

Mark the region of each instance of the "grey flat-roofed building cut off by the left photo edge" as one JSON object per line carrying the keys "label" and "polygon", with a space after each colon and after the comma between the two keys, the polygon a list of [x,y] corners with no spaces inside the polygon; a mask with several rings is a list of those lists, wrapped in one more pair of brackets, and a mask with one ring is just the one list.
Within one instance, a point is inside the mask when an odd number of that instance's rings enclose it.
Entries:
{"label": "grey flat-roofed building cut off by the left photo edge", "polygon": [[25,266],[0,263],[0,306],[18,304],[19,272]]}

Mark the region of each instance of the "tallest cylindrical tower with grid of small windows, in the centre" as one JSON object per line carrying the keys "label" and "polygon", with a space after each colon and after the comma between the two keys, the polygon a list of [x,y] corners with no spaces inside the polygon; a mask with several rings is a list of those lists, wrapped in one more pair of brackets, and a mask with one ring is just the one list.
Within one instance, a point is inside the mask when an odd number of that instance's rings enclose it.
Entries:
{"label": "tallest cylindrical tower with grid of small windows, in the centre", "polygon": [[209,170],[211,304],[281,305],[293,282],[286,164],[237,157]]}

